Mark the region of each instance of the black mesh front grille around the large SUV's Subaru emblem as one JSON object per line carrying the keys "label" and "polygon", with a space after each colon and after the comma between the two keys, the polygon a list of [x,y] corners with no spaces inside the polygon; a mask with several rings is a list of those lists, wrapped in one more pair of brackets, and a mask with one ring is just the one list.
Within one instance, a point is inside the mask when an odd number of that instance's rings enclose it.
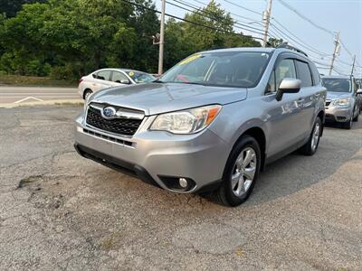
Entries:
{"label": "black mesh front grille around the large SUV's Subaru emblem", "polygon": [[114,118],[105,119],[100,114],[100,109],[88,107],[87,124],[103,131],[119,135],[134,135],[142,119]]}

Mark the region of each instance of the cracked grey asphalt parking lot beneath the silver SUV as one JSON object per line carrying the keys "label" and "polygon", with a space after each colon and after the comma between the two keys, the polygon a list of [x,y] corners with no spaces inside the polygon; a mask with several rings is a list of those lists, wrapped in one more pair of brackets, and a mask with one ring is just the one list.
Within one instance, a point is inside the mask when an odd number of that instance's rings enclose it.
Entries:
{"label": "cracked grey asphalt parking lot beneath the silver SUV", "polygon": [[361,270],[362,122],[220,206],[162,191],[73,149],[81,107],[0,109],[0,268]]}

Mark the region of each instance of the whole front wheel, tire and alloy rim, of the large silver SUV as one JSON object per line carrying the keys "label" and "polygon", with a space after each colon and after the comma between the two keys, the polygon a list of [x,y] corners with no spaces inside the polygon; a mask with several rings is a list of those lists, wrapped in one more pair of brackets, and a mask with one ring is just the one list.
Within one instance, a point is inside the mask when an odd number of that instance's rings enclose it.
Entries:
{"label": "whole front wheel, tire and alloy rim, of the large silver SUV", "polygon": [[[223,184],[216,191],[216,200],[226,206],[238,206],[246,201],[258,179],[261,158],[260,146],[255,138],[243,135],[229,155],[224,168]],[[238,181],[233,182],[232,177]]]}

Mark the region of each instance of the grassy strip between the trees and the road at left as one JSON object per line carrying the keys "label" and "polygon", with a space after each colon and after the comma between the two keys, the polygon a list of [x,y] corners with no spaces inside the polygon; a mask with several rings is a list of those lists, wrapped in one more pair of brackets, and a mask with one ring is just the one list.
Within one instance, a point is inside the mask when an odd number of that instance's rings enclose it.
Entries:
{"label": "grassy strip between the trees and the road at left", "polygon": [[57,80],[49,77],[23,76],[0,73],[0,85],[11,86],[53,86],[53,87],[77,87],[77,81]]}

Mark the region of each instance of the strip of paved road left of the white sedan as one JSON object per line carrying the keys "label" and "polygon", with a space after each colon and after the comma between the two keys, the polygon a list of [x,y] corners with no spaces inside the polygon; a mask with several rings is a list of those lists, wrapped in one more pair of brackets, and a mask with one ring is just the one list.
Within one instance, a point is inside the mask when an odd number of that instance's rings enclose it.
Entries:
{"label": "strip of paved road left of the white sedan", "polygon": [[76,88],[0,86],[0,104],[81,99]]}

